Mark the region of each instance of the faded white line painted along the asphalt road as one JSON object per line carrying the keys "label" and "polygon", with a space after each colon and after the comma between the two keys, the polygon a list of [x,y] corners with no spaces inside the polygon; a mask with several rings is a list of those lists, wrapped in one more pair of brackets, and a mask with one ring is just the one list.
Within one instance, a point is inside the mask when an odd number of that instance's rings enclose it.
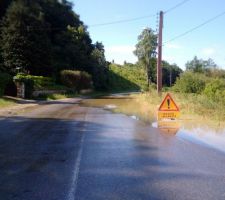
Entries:
{"label": "faded white line painted along the asphalt road", "polygon": [[[87,119],[87,114],[85,115],[85,118],[84,118],[84,126],[83,126],[82,130],[84,130],[86,127],[86,119]],[[78,176],[79,176],[79,171],[80,171],[80,163],[81,163],[81,157],[82,157],[82,153],[83,153],[84,136],[85,136],[85,132],[82,131],[80,148],[79,148],[77,159],[75,162],[75,167],[74,167],[73,175],[72,175],[71,187],[70,187],[70,190],[68,193],[67,200],[75,200],[75,198],[76,198],[76,190],[77,190]]]}

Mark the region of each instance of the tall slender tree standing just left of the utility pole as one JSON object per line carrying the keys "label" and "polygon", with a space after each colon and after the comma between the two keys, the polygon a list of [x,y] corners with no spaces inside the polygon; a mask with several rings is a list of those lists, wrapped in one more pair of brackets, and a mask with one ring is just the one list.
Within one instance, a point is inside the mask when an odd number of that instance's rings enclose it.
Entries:
{"label": "tall slender tree standing just left of the utility pole", "polygon": [[139,62],[145,67],[148,85],[153,81],[150,76],[153,71],[151,59],[156,56],[156,47],[157,35],[152,29],[145,28],[138,36],[138,43],[136,44],[134,54],[138,57]]}

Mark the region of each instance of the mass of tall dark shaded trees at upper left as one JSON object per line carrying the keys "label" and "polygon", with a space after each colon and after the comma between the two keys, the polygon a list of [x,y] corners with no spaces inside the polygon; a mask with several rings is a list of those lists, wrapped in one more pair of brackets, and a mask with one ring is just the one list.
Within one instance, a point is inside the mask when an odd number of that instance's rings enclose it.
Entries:
{"label": "mass of tall dark shaded trees at upper left", "polygon": [[106,86],[104,46],[92,43],[87,27],[67,0],[1,0],[0,70],[53,76],[61,70],[89,72]]}

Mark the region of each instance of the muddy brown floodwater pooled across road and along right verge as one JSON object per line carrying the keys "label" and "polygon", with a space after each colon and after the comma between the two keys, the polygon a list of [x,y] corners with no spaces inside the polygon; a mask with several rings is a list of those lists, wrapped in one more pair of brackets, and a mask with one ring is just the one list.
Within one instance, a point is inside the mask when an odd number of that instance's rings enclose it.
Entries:
{"label": "muddy brown floodwater pooled across road and along right verge", "polygon": [[[157,124],[156,110],[148,110],[141,106],[134,97],[129,95],[111,95],[97,99],[86,99],[81,105],[100,107],[112,112],[125,113],[135,120],[142,120],[152,124],[155,128],[160,128]],[[157,108],[156,108],[157,109]],[[176,122],[177,124],[177,122]],[[191,119],[179,120],[178,126],[172,129],[162,129],[163,133],[188,140],[200,145],[215,148],[225,153],[225,127],[220,123],[206,123],[206,121]],[[172,134],[171,134],[172,132]]]}

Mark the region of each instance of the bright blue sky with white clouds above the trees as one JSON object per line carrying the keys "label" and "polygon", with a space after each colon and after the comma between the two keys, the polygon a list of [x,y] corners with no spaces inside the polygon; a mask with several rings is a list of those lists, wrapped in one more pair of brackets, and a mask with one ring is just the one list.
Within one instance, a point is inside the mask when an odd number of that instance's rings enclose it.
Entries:
{"label": "bright blue sky with white clouds above the trees", "polygon": [[[135,63],[133,54],[137,37],[145,27],[156,30],[157,13],[173,8],[183,0],[72,0],[74,11],[88,26],[93,43],[102,42],[108,61]],[[164,14],[163,60],[185,69],[194,56],[212,58],[225,69],[225,14],[189,34],[174,37],[225,12],[224,0],[187,0]],[[98,24],[149,16],[126,23],[97,26]]]}

